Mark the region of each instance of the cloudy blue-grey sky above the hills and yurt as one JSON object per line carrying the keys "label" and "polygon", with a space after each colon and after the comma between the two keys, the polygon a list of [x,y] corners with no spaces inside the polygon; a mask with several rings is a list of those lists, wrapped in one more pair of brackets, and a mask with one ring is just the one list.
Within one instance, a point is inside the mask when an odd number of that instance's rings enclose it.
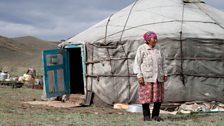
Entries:
{"label": "cloudy blue-grey sky above the hills and yurt", "polygon": [[[66,40],[135,0],[0,0],[0,36]],[[204,0],[224,11],[224,0]]]}

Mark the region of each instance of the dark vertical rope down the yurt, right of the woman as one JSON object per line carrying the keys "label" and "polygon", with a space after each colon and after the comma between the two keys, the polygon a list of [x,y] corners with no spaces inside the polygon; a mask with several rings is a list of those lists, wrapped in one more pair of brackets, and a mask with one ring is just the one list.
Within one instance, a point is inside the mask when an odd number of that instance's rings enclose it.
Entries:
{"label": "dark vertical rope down the yurt, right of the woman", "polygon": [[182,8],[182,20],[181,20],[181,29],[180,29],[180,76],[183,85],[185,86],[185,76],[184,76],[184,70],[183,70],[183,23],[184,23],[184,5],[183,2],[183,8]]}

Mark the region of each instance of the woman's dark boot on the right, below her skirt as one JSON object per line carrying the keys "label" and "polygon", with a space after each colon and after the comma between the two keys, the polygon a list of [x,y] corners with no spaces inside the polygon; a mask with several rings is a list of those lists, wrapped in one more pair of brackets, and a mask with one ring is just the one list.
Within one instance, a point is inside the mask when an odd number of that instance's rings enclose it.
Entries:
{"label": "woman's dark boot on the right, below her skirt", "polygon": [[155,102],[152,111],[152,119],[155,121],[163,121],[161,117],[159,117],[161,102]]}

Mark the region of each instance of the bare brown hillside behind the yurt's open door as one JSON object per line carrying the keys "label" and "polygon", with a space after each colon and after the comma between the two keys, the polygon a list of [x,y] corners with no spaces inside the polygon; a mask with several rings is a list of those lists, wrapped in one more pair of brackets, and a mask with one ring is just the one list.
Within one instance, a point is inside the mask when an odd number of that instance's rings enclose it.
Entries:
{"label": "bare brown hillside behind the yurt's open door", "polygon": [[7,38],[0,36],[0,70],[22,75],[29,67],[42,74],[42,51],[57,48],[56,42],[32,36]]}

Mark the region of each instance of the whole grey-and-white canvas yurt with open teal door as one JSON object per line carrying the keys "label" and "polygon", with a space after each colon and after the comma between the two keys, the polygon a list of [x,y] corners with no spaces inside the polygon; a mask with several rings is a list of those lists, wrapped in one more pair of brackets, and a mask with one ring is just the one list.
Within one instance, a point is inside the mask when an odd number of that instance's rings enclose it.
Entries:
{"label": "whole grey-and-white canvas yurt with open teal door", "polygon": [[92,92],[110,105],[137,103],[133,61],[147,31],[166,57],[166,102],[224,101],[224,13],[202,0],[136,0],[45,51],[47,96]]}

